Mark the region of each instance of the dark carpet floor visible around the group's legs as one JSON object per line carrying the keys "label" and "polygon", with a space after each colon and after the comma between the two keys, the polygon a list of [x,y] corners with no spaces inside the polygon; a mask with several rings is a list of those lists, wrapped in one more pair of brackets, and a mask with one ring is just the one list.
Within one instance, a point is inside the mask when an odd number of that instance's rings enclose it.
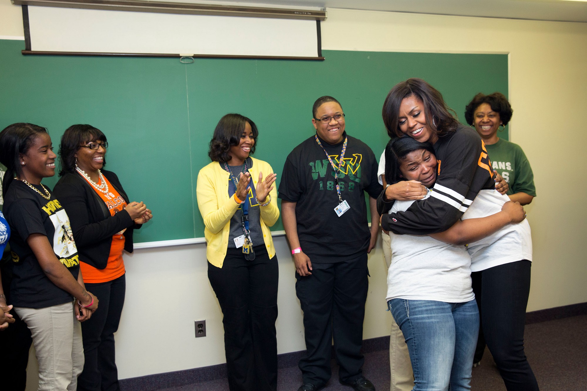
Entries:
{"label": "dark carpet floor visible around the group's legs", "polygon": [[[525,351],[541,391],[587,390],[587,315],[557,319],[526,326]],[[389,390],[389,353],[367,353],[363,374],[377,390]],[[302,376],[297,366],[279,370],[278,391],[295,391]],[[475,391],[505,391],[488,350],[481,365],[473,369],[471,388]],[[226,379],[195,383],[160,391],[227,391]],[[350,391],[338,382],[338,369],[332,362],[332,379],[324,390]]]}

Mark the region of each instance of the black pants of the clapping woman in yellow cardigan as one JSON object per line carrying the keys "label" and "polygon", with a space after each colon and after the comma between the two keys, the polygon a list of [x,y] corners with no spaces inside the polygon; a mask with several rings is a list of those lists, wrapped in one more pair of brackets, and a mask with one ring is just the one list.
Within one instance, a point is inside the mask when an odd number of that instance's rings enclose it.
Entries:
{"label": "black pants of the clapping woman in yellow cardigan", "polygon": [[241,248],[228,248],[222,268],[208,262],[208,279],[222,309],[224,350],[231,391],[277,389],[277,258],[265,245],[247,261]]}

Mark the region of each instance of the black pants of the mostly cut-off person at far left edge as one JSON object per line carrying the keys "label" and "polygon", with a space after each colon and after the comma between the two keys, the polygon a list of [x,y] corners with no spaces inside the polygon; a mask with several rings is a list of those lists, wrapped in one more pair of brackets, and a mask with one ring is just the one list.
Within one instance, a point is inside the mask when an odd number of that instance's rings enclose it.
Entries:
{"label": "black pants of the mostly cut-off person at far left edge", "polygon": [[[2,254],[0,254],[0,257]],[[10,301],[10,284],[12,273],[8,267],[2,268],[2,286],[6,294],[6,303]],[[16,319],[14,323],[8,323],[8,328],[0,331],[0,346],[3,354],[0,354],[0,389],[25,391],[26,366],[29,363],[29,350],[33,342],[31,331],[26,323],[18,317],[14,309],[10,312]]]}

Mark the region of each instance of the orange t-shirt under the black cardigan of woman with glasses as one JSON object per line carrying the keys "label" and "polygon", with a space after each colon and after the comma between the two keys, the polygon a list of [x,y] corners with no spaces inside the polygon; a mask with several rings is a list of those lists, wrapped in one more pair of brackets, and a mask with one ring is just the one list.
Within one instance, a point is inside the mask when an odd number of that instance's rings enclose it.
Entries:
{"label": "orange t-shirt under the black cardigan of woman with glasses", "polygon": [[[111,215],[119,213],[126,207],[126,201],[122,198],[122,195],[116,191],[114,186],[106,179],[108,184],[108,194],[102,193],[102,191],[96,190],[92,184],[90,186],[96,191],[96,193],[102,198]],[[98,182],[100,185],[101,183]],[[122,251],[124,250],[124,230],[117,232],[112,235],[112,245],[110,245],[110,255],[108,256],[108,263],[106,268],[97,269],[93,266],[80,262],[80,268],[82,268],[82,276],[84,282],[90,282],[96,284],[97,282],[112,281],[115,278],[119,278],[124,274],[124,262],[122,261]]]}

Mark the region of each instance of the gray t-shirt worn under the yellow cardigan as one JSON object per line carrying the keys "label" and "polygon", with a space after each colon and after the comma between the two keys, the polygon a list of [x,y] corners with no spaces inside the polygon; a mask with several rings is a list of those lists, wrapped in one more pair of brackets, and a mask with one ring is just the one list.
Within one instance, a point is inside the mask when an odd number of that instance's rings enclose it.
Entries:
{"label": "gray t-shirt worn under the yellow cardigan", "polygon": [[[222,164],[224,167],[224,164]],[[252,159],[247,159],[247,168],[252,167]],[[237,178],[240,176],[244,165],[241,166],[228,166],[232,173],[232,176]],[[228,183],[228,195],[232,197],[234,195],[237,187],[234,184],[234,181],[230,179]],[[254,246],[264,245],[263,240],[263,232],[261,231],[261,208],[257,202],[257,193],[255,192],[255,186],[253,186],[252,181],[251,185],[248,189],[248,197],[245,202],[249,205],[249,231],[251,234],[251,241]],[[242,205],[237,209],[237,211],[232,215],[230,220],[230,236],[228,237],[228,248],[236,248],[237,246],[234,244],[234,238],[237,238],[244,234],[242,230]]]}

